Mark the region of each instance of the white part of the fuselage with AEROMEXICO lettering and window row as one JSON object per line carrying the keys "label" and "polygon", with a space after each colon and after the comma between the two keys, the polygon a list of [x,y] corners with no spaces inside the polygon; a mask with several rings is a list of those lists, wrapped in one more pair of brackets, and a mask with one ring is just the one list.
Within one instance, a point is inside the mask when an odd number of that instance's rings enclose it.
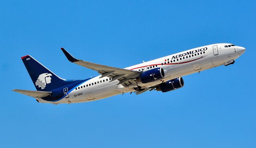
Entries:
{"label": "white part of the fuselage with AEROMEXICO lettering and window row", "polygon": [[174,78],[186,76],[223,64],[228,65],[234,62],[236,58],[244,53],[245,49],[243,47],[231,45],[232,44],[228,43],[220,43],[202,46],[124,68],[140,72],[154,68],[163,68],[165,76],[162,80],[150,83],[142,83],[138,81],[136,84],[124,87],[121,84],[118,84],[118,80],[112,81],[111,78],[108,77],[100,78],[100,75],[82,82],[72,90],[67,90],[66,88],[66,90],[64,90],[64,93],[66,91],[66,95],[58,101],[45,101],[41,98],[38,98],[38,101],[54,104],[88,102],[126,92],[134,92],[134,88],[138,87],[140,89],[145,89],[156,86]]}

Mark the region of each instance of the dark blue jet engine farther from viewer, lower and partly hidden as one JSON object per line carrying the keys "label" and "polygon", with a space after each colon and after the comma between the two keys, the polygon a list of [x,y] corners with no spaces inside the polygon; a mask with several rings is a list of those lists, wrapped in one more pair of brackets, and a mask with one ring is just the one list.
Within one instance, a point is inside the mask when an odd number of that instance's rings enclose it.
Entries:
{"label": "dark blue jet engine farther from viewer, lower and partly hidden", "polygon": [[156,90],[162,92],[169,92],[178,88],[182,88],[183,86],[184,80],[182,77],[180,77],[161,83],[159,86],[156,87]]}

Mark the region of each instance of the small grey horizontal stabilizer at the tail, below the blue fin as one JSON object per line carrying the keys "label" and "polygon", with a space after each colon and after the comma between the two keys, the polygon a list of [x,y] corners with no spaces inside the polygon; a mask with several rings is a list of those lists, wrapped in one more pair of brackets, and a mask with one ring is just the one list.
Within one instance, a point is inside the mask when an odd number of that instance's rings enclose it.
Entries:
{"label": "small grey horizontal stabilizer at the tail, below the blue fin", "polygon": [[12,91],[22,93],[24,95],[28,95],[34,98],[46,97],[52,93],[52,92],[42,92],[42,91],[34,91],[34,90],[12,90]]}

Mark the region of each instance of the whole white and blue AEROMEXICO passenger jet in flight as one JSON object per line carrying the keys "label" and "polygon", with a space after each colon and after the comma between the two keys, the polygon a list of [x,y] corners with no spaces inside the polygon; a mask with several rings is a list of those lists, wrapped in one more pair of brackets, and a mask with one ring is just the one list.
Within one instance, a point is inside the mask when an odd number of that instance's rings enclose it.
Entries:
{"label": "whole white and blue AEROMEXICO passenger jet in flight", "polygon": [[169,92],[184,86],[182,76],[234,64],[234,60],[245,52],[244,47],[220,43],[116,68],[78,60],[65,49],[61,50],[70,62],[96,70],[101,75],[85,80],[65,80],[27,55],[22,61],[37,91],[13,91],[34,97],[40,103],[53,104],[89,102],[127,92],[137,95],[152,90]]}

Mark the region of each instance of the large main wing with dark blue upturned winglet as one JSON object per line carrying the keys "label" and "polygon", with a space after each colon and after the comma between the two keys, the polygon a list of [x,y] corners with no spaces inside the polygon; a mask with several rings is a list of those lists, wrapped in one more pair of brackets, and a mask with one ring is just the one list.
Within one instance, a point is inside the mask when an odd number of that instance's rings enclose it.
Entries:
{"label": "large main wing with dark blue upturned winglet", "polygon": [[141,72],[138,72],[135,70],[116,68],[116,67],[106,66],[102,64],[87,62],[84,60],[79,60],[77,58],[74,58],[72,55],[70,55],[70,53],[68,53],[68,51],[66,51],[64,48],[61,48],[61,50],[70,62],[97,71],[99,74],[102,74],[100,78],[103,78],[106,76],[106,77],[112,78],[111,81],[119,80],[120,81],[119,84],[122,84],[123,86],[128,86],[130,84],[136,83],[132,79],[137,78],[141,74]]}

